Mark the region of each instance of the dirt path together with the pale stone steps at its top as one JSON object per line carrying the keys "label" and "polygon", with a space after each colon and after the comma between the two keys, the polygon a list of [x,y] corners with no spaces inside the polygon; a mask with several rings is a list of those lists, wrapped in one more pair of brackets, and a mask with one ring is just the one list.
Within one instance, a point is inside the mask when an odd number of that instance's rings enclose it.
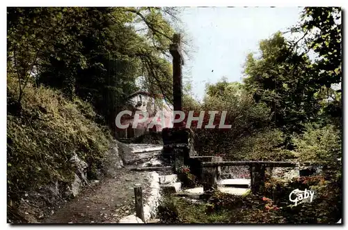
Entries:
{"label": "dirt path together with the pale stone steps at its top", "polygon": [[161,146],[118,143],[118,147],[122,151],[120,154],[116,149],[111,152],[109,161],[112,163],[106,169],[106,178],[95,181],[78,197],[52,209],[51,215],[42,222],[117,223],[122,217],[133,214],[134,185],[142,185],[145,199],[150,182],[147,178],[149,171],[131,169],[155,166],[159,162]]}

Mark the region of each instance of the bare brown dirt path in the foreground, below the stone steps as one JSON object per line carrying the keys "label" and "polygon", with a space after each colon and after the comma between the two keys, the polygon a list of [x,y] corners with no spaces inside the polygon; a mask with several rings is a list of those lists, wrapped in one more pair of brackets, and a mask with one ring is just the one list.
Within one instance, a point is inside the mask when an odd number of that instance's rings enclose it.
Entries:
{"label": "bare brown dirt path in the foreground, below the stone steps", "polygon": [[122,217],[135,212],[134,184],[147,183],[147,172],[119,169],[118,176],[106,178],[64,206],[44,223],[117,223]]}

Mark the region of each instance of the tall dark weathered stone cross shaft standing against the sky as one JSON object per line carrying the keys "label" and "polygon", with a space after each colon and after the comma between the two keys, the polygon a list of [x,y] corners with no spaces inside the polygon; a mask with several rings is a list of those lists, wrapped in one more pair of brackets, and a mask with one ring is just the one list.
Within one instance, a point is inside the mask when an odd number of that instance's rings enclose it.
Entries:
{"label": "tall dark weathered stone cross shaft standing against the sky", "polygon": [[[182,52],[181,34],[175,33],[173,43],[170,45],[170,52],[173,56],[173,109],[182,111]],[[174,127],[181,127],[182,123],[174,123]]]}

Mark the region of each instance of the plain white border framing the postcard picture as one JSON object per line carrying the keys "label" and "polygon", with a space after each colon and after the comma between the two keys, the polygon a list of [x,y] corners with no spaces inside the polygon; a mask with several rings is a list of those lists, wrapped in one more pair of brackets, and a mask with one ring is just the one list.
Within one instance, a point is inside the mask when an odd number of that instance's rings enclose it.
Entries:
{"label": "plain white border framing the postcard picture", "polygon": [[[292,0],[292,1],[279,1],[279,0],[269,0],[269,1],[255,1],[255,0],[243,0],[243,1],[227,1],[227,0],[220,0],[220,1],[207,1],[207,0],[200,0],[200,1],[187,1],[187,0],[175,0],[175,1],[163,1],[163,0],[151,0],[151,1],[140,1],[140,0],[125,0],[125,1],[88,1],[88,0],[79,0],[79,1],[72,1],[72,0],[61,0],[61,1],[1,1],[1,5],[3,7],[1,8],[1,54],[3,55],[3,58],[1,59],[1,72],[3,72],[3,77],[1,77],[1,81],[3,83],[0,85],[1,88],[1,97],[0,97],[0,103],[1,112],[3,113],[3,116],[1,116],[1,147],[3,149],[2,151],[2,158],[1,164],[3,164],[3,167],[0,167],[1,169],[1,185],[2,187],[6,187],[6,7],[7,6],[277,6],[277,7],[284,7],[284,6],[342,6],[343,9],[345,9],[345,6],[347,4],[347,1],[324,1],[324,0],[317,0],[317,1],[303,1],[303,0]],[[344,15],[346,16],[346,15]],[[345,20],[345,17],[343,18]],[[345,20],[346,21],[346,20]],[[345,22],[342,22],[345,26]],[[346,31],[346,26],[344,28],[344,31]],[[344,44],[346,43],[346,36],[344,36]],[[343,89],[348,89],[347,87],[347,81],[344,82]],[[346,102],[348,100],[348,95],[345,93],[344,95],[344,101]],[[347,115],[347,112],[345,112],[345,116]],[[347,123],[347,119],[345,119]],[[345,139],[347,139],[347,135],[345,136]],[[344,160],[345,162],[345,169],[347,171],[347,160]],[[347,183],[347,178],[345,177],[345,184]],[[10,228],[9,224],[6,224],[6,190],[1,190],[1,197],[3,199],[3,203],[1,205],[1,216],[3,217],[3,222],[1,222],[1,229],[8,229]],[[347,203],[347,202],[346,202]],[[347,213],[347,208],[345,207],[345,212]],[[347,218],[343,217],[343,222],[345,222]],[[27,225],[26,225],[27,226]],[[22,229],[23,227],[16,227],[17,229]],[[34,225],[31,227],[38,227],[38,225]],[[54,227],[50,226],[43,226],[45,229],[54,229]],[[58,226],[59,227],[59,226]],[[82,227],[85,228],[86,226],[62,226],[64,229],[72,229],[75,227]],[[89,227],[89,226],[88,226]],[[93,227],[91,225],[90,227]],[[93,228],[100,228],[104,226],[97,226]],[[119,226],[109,226],[113,228],[117,228]],[[134,227],[134,226],[129,226]],[[137,227],[137,226],[135,226]],[[153,226],[146,226],[142,225],[142,229],[152,229]],[[165,227],[164,225],[159,226],[161,228]],[[207,227],[207,228],[214,228],[215,226],[212,225],[206,225],[206,226],[180,226],[183,228],[190,228],[190,229],[200,229],[201,227]],[[218,226],[216,226],[218,227]],[[242,226],[219,226],[223,228],[233,228],[233,229],[239,229],[242,228]],[[246,227],[246,226],[244,226]],[[248,226],[251,227],[251,226]],[[251,228],[259,228],[258,225],[253,225]],[[315,229],[316,226],[301,226],[306,227],[310,229]],[[173,228],[173,227],[171,227]]]}

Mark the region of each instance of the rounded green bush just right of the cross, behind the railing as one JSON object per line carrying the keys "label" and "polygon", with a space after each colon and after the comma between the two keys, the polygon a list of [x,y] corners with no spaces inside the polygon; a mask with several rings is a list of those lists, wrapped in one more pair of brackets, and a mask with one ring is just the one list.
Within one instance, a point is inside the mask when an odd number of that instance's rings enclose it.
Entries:
{"label": "rounded green bush just right of the cross, behind the railing", "polygon": [[[207,95],[199,110],[219,112],[214,120],[216,128],[195,130],[195,147],[202,155],[219,154],[236,159],[235,151],[237,144],[240,145],[239,139],[248,137],[270,123],[269,109],[265,105],[255,103],[242,84],[226,82],[224,79],[207,85]],[[219,129],[222,111],[227,112],[225,124],[232,125],[232,128]],[[205,116],[203,125],[207,125],[208,115]]]}

